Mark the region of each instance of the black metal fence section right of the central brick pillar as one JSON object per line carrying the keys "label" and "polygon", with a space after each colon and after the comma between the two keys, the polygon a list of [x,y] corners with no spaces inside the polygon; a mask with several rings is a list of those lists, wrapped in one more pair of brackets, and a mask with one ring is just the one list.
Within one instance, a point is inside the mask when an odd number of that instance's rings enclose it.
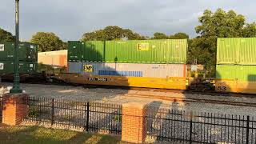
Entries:
{"label": "black metal fence section right of the central brick pillar", "polygon": [[150,109],[146,121],[148,135],[158,141],[256,143],[256,121],[250,116]]}

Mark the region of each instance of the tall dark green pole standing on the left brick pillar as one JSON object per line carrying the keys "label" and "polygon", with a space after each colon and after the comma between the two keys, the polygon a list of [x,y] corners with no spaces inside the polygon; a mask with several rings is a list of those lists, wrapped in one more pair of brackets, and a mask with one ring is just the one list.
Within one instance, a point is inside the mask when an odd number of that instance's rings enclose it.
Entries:
{"label": "tall dark green pole standing on the left brick pillar", "polygon": [[15,0],[15,50],[14,50],[14,86],[10,90],[11,94],[20,94],[22,90],[19,86],[19,58],[18,58],[18,46],[19,46],[19,10],[18,10],[19,0]]}

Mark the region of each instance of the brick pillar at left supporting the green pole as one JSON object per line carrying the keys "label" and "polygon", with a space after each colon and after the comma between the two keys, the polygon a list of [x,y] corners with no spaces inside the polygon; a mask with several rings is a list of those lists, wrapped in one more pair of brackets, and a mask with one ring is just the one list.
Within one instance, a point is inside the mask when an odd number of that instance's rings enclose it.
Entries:
{"label": "brick pillar at left supporting the green pole", "polygon": [[27,94],[4,94],[2,97],[2,123],[18,126],[29,112]]}

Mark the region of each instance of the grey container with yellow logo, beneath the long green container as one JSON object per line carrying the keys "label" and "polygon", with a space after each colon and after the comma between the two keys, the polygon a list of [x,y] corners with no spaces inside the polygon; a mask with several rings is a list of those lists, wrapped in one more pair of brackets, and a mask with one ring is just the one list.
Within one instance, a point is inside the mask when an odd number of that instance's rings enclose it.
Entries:
{"label": "grey container with yellow logo, beneath the long green container", "polygon": [[[79,66],[80,74],[85,75],[114,75],[127,77],[186,77],[186,65],[184,64],[139,64],[139,63],[106,63],[106,62],[82,62]],[[74,68],[73,68],[74,69]],[[77,70],[78,71],[78,70]],[[74,71],[70,71],[70,73]]]}

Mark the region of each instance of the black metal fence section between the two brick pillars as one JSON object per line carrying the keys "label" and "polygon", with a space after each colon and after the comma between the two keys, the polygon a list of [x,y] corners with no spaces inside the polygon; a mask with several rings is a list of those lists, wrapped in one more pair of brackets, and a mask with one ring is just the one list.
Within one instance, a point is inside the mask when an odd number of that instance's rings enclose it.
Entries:
{"label": "black metal fence section between the two brick pillars", "polygon": [[30,97],[29,109],[25,122],[67,126],[104,134],[121,134],[122,131],[122,105]]}

